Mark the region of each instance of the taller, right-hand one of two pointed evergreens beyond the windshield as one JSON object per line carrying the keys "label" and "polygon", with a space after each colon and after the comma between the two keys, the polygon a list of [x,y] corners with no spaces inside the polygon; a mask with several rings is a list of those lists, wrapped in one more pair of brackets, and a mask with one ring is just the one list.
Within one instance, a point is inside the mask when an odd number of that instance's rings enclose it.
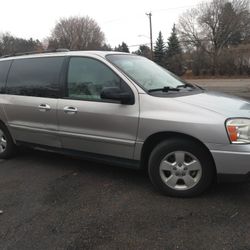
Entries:
{"label": "taller, right-hand one of two pointed evergreens beyond the windshield", "polygon": [[168,47],[166,49],[166,68],[171,72],[182,75],[184,73],[182,49],[177,37],[175,24],[172,33],[168,38]]}

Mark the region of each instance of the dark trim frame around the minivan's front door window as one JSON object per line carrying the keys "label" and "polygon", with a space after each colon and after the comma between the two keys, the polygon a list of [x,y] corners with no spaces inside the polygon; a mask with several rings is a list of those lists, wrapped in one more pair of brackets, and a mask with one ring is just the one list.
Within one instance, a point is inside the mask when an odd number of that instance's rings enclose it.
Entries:
{"label": "dark trim frame around the minivan's front door window", "polygon": [[91,57],[91,56],[82,56],[82,55],[74,55],[74,56],[66,56],[66,65],[67,68],[64,72],[64,84],[63,84],[63,95],[62,95],[62,99],[65,100],[74,100],[74,101],[83,101],[83,102],[100,102],[100,103],[112,103],[112,104],[121,104],[120,101],[115,101],[115,100],[104,100],[104,99],[100,99],[100,100],[85,100],[85,99],[78,99],[78,98],[70,98],[68,97],[68,93],[67,93],[67,87],[68,87],[68,74],[69,74],[69,64],[70,64],[70,60],[72,58],[88,58],[88,59],[92,59],[95,60],[103,65],[105,65],[107,68],[109,68],[120,80],[121,80],[121,84],[123,84],[124,88],[131,93],[131,95],[133,95],[133,103],[131,104],[126,104],[126,105],[134,105],[135,104],[135,94],[133,92],[133,90],[130,88],[130,86],[112,69],[109,67],[109,65],[107,65],[106,63],[104,63],[101,60],[98,60],[95,57]]}

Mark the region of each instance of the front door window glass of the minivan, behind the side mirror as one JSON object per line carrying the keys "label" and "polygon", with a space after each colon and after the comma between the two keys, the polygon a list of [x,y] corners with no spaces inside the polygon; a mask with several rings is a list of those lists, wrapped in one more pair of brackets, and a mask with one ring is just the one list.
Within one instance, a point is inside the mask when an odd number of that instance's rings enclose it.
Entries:
{"label": "front door window glass of the minivan, behind the side mirror", "polygon": [[95,59],[73,57],[68,70],[68,97],[100,101],[104,87],[119,87],[121,79],[108,66]]}

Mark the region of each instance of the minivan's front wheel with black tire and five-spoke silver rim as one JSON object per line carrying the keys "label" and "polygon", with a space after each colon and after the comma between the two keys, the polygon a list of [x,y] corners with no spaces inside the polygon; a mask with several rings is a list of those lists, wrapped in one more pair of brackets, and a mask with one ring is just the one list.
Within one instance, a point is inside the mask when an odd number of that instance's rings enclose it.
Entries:
{"label": "minivan's front wheel with black tire and five-spoke silver rim", "polygon": [[212,156],[199,143],[188,139],[169,139],[152,151],[148,164],[153,185],[163,194],[193,197],[213,182]]}

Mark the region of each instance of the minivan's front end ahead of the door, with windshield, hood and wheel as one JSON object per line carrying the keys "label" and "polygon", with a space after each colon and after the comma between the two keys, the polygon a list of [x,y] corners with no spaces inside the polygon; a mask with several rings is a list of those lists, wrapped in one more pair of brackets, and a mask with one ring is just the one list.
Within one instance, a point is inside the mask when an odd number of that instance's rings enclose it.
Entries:
{"label": "minivan's front end ahead of the door, with windshield, hood and wheel", "polygon": [[[213,173],[219,181],[249,178],[249,101],[186,83],[141,57],[111,55],[108,60],[138,86],[135,158],[148,157],[155,186],[187,197],[205,190]],[[145,146],[148,141],[153,145]],[[146,150],[149,156],[143,155],[145,147],[152,148]]]}

